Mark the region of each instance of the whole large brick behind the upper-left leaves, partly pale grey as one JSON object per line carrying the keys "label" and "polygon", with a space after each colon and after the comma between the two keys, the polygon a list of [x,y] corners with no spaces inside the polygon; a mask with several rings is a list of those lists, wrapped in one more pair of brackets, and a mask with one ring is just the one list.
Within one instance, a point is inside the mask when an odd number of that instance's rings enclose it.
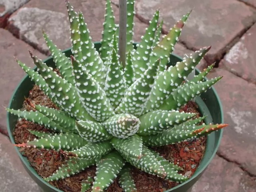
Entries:
{"label": "whole large brick behind the upper-left leaves, partly pale grey", "polygon": [[[82,11],[94,42],[102,38],[105,2],[105,0],[70,0],[75,11]],[[112,9],[116,23],[118,23],[119,9],[113,4]],[[140,22],[137,18],[134,18],[134,21],[134,41],[138,42],[148,25]],[[8,24],[10,32],[42,52],[48,52],[42,37],[42,28],[58,48],[63,50],[71,46],[68,14],[64,0],[30,0],[10,17]]]}

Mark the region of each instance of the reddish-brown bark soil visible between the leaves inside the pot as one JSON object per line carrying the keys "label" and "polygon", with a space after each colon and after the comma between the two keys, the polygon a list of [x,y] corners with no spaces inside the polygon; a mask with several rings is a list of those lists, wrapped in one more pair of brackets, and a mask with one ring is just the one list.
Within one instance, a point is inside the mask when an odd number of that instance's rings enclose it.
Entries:
{"label": "reddish-brown bark soil visible between the leaves inside the pot", "polygon": [[[56,108],[56,106],[50,101],[50,99],[43,94],[38,86],[34,86],[30,90],[28,100],[33,101],[35,104]],[[34,110],[24,102],[23,107],[26,110]],[[197,106],[194,102],[190,101],[186,106],[183,106],[180,111],[198,113],[196,118],[200,116]],[[14,129],[14,139],[16,144],[27,142],[28,140],[34,140],[34,135],[30,134],[28,130],[37,130],[44,132],[52,132],[44,126],[34,124],[33,122],[26,121],[25,119],[18,120]],[[164,158],[178,164],[183,168],[179,173],[191,177],[196,168],[198,168],[202,157],[204,156],[204,150],[206,147],[206,137],[197,138],[192,142],[181,142],[179,144],[172,144],[161,147],[154,147],[153,149],[159,152]],[[28,158],[30,165],[36,170],[38,175],[45,178],[52,175],[61,164],[64,164],[68,157],[63,156],[59,152],[54,150],[36,149],[36,148],[21,148],[22,155]],[[49,182],[52,186],[64,191],[64,192],[80,192],[81,182],[86,179],[87,176],[94,177],[96,172],[96,166],[91,166],[84,171],[58,180]],[[176,182],[169,182],[157,176],[153,176],[133,168],[132,176],[136,184],[138,192],[163,192],[178,184]],[[91,190],[88,190],[90,192]],[[119,187],[118,180],[114,180],[114,183],[108,187],[107,192],[122,192]]]}

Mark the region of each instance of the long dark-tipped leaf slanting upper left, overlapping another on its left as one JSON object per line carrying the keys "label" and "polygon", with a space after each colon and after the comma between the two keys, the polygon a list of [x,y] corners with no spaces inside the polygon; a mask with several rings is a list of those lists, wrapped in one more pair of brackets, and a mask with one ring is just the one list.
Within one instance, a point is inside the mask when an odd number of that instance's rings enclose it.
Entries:
{"label": "long dark-tipped leaf slanting upper left, overlapping another on its left", "polygon": [[64,111],[77,119],[94,120],[82,107],[76,88],[58,76],[52,68],[34,56],[32,52],[29,53],[46,83],[50,86],[52,93],[56,96],[58,104],[64,108]]}

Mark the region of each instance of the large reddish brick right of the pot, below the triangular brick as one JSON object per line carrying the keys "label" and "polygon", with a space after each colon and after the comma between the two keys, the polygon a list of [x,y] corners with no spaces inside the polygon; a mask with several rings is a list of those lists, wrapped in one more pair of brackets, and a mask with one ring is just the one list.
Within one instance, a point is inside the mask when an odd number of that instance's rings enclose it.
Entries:
{"label": "large reddish brick right of the pot, below the triangular brick", "polygon": [[256,175],[256,86],[216,68],[208,78],[223,76],[214,85],[224,110],[223,138],[218,153]]}

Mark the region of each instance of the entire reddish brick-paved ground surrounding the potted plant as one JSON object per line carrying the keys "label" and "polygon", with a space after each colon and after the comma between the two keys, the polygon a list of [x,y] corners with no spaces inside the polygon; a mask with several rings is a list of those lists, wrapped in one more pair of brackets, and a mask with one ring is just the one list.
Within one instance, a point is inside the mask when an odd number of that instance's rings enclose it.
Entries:
{"label": "entire reddish brick-paved ground surrounding the potted plant", "polygon": [[[94,41],[101,38],[105,1],[70,0],[80,9]],[[118,22],[118,0],[112,0]],[[217,62],[209,78],[224,76],[214,86],[222,100],[224,129],[220,148],[192,192],[256,191],[256,0],[136,0],[135,36],[140,41],[148,20],[160,8],[165,34],[176,20],[193,8],[174,53],[190,54],[202,46],[212,49],[200,64]],[[9,19],[8,19],[9,18]],[[24,76],[13,56],[33,66],[27,50],[46,58],[43,28],[58,48],[70,47],[69,24],[63,0],[0,0],[0,106],[7,106],[16,84]],[[188,50],[189,48],[189,50]],[[15,75],[13,75],[15,74]],[[6,112],[0,110],[1,190],[38,192],[24,171],[6,134]],[[28,190],[29,189],[29,190]]]}

